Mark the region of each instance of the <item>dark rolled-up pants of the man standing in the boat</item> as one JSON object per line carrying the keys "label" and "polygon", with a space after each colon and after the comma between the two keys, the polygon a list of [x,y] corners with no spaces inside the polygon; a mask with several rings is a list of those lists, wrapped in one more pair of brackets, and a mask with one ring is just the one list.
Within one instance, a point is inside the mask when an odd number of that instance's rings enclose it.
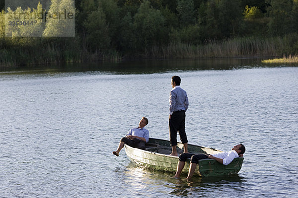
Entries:
{"label": "dark rolled-up pants of the man standing in the boat", "polygon": [[169,128],[171,146],[177,145],[177,131],[179,132],[181,142],[188,142],[185,133],[185,111],[175,111],[172,114],[169,120]]}

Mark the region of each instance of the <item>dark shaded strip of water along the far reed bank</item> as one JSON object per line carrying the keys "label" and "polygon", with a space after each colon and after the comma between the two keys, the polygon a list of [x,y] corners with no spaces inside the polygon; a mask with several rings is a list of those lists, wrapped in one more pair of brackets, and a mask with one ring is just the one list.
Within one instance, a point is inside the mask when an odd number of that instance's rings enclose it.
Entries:
{"label": "dark shaded strip of water along the far reed bank", "polygon": [[[171,71],[196,70],[231,70],[255,67],[277,67],[264,65],[262,58],[221,58],[221,59],[165,59],[165,60],[136,60],[119,63],[74,63],[52,66],[28,66],[22,68],[0,68],[0,72],[17,73],[56,73],[56,72],[87,72],[97,71],[112,74],[151,74]],[[280,66],[280,65],[278,65]]]}

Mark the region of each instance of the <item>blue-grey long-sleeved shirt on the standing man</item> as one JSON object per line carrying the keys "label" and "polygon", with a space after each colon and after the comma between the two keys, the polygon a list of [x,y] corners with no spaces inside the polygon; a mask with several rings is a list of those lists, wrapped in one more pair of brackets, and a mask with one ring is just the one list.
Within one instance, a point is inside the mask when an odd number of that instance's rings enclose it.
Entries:
{"label": "blue-grey long-sleeved shirt on the standing man", "polygon": [[180,86],[175,86],[170,92],[170,115],[175,111],[188,109],[188,97],[186,91]]}

